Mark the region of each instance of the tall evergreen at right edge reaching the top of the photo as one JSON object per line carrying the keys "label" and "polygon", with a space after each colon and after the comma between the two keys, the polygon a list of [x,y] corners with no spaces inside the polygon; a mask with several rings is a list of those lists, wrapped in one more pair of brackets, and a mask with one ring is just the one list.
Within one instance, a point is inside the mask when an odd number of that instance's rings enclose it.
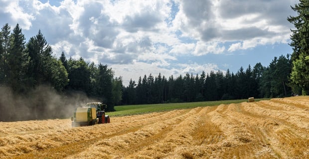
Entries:
{"label": "tall evergreen at right edge reaching the top of the photo", "polygon": [[309,94],[309,1],[300,0],[299,4],[291,6],[297,16],[289,16],[288,21],[294,24],[291,29],[291,46],[293,48],[293,69],[291,81],[303,89],[303,95]]}

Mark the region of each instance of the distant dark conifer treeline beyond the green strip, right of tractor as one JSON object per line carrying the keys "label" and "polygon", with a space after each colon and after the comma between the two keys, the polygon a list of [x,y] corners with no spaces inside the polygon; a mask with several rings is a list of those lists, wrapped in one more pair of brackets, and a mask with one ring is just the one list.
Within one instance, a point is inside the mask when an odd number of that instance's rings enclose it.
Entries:
{"label": "distant dark conifer treeline beyond the green strip, right of tractor", "polygon": [[237,73],[227,70],[201,75],[186,74],[168,78],[159,74],[140,77],[138,82],[130,80],[123,88],[122,104],[151,104],[168,102],[194,102],[248,97],[269,98],[291,96],[289,75],[290,56],[275,57],[268,67],[257,63]]}

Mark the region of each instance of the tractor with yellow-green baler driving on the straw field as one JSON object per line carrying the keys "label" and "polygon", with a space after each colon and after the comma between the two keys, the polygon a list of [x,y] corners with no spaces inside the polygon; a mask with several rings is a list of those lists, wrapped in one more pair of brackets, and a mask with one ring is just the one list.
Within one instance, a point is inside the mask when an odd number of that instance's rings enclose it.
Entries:
{"label": "tractor with yellow-green baler driving on the straw field", "polygon": [[86,107],[75,108],[71,117],[72,127],[110,123],[109,115],[105,115],[106,107],[101,102],[91,102]]}

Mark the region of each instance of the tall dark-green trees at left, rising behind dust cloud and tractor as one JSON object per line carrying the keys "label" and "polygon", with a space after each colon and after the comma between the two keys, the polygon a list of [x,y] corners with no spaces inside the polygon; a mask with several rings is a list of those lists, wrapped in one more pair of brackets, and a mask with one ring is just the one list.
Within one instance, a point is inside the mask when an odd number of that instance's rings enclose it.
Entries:
{"label": "tall dark-green trees at left, rising behind dust cloud and tractor", "polygon": [[[3,25],[0,31],[0,88],[7,90],[8,87],[13,95],[34,98],[33,91],[42,85],[63,96],[83,92],[97,101],[104,101],[108,104],[107,111],[113,111],[114,105],[121,101],[123,84],[122,78],[115,78],[107,65],[86,63],[83,58],[66,59],[64,53],[60,58],[55,57],[40,30],[26,42],[18,24],[12,31],[8,24]],[[47,92],[41,92],[44,93]],[[44,99],[40,100],[28,107],[34,114],[43,116],[42,112],[48,108]],[[1,96],[0,116],[8,114],[4,106],[12,105],[12,102],[4,101],[5,97]]]}

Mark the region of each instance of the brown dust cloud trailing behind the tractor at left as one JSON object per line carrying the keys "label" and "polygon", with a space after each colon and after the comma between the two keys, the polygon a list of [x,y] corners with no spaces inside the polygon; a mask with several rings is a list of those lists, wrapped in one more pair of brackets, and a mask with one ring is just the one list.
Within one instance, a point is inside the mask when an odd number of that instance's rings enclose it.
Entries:
{"label": "brown dust cloud trailing behind the tractor at left", "polygon": [[14,95],[9,87],[0,87],[0,121],[69,118],[76,107],[89,99],[85,93],[74,91],[59,94],[48,85],[30,90],[26,95]]}

